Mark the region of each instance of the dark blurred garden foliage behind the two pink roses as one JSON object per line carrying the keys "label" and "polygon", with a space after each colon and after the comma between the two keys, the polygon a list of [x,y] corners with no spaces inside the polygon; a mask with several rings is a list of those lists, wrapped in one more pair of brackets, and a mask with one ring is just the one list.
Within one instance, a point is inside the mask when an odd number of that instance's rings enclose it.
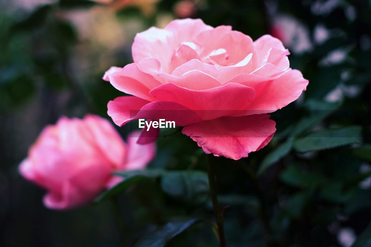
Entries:
{"label": "dark blurred garden foliage behind the two pink roses", "polygon": [[104,71],[132,62],[135,33],[183,16],[254,40],[280,37],[309,80],[298,101],[272,113],[269,145],[240,161],[212,159],[227,245],[371,246],[371,1],[115,3],[0,1],[0,246],[117,246],[120,217],[125,246],[150,246],[145,234],[161,226],[154,236],[163,241],[180,229],[173,221],[190,227],[167,246],[217,245],[205,155],[187,136],[163,137],[173,130],[161,133],[150,164],[161,174],[131,174],[117,197],[75,210],[46,209],[45,191],[17,171],[60,116],[108,118],[106,103],[121,93]]}

